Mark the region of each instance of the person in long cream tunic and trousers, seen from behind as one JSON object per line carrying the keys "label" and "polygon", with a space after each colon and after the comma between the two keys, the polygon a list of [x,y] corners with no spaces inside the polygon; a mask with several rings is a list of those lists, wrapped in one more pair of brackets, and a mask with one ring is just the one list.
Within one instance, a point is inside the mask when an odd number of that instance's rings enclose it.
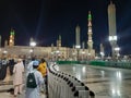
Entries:
{"label": "person in long cream tunic and trousers, seen from behind", "polygon": [[17,94],[22,94],[23,88],[23,73],[24,73],[24,65],[21,59],[17,60],[17,63],[13,68],[13,85],[14,85],[14,97],[17,96]]}

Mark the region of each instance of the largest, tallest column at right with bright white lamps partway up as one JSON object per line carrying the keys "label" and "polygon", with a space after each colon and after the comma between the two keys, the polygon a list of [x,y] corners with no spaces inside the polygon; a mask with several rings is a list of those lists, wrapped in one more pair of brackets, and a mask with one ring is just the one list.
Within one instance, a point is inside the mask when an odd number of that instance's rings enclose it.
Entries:
{"label": "largest, tallest column at right with bright white lamps partway up", "polygon": [[110,1],[108,5],[108,26],[109,26],[109,41],[111,45],[111,56],[116,56],[115,48],[118,47],[117,45],[117,34],[116,34],[116,7]]}

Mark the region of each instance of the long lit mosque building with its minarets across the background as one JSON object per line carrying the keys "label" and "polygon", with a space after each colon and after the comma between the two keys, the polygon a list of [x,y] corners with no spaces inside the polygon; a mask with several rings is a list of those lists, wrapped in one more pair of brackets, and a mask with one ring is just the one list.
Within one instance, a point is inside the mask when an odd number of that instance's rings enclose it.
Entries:
{"label": "long lit mosque building with its minarets across the background", "polygon": [[[15,30],[11,29],[9,44],[5,40],[4,47],[1,47],[0,57],[7,58],[45,58],[47,60],[88,60],[95,58],[95,50],[93,49],[93,33],[92,33],[92,14],[88,12],[87,19],[87,49],[85,49],[84,42],[81,47],[81,27],[75,27],[75,46],[62,47],[61,36],[57,39],[56,46],[51,44],[50,47],[38,47],[33,38],[29,40],[29,46],[15,46]],[[0,40],[1,41],[1,40]],[[79,47],[78,47],[79,46]]]}

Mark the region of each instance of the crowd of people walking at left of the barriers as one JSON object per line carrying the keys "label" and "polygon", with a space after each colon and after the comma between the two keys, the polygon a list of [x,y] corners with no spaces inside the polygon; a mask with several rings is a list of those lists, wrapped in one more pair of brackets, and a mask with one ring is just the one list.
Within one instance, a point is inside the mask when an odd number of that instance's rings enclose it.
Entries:
{"label": "crowd of people walking at left of the barriers", "polygon": [[[22,59],[15,61],[13,59],[0,60],[0,74],[8,66],[10,68],[10,75],[13,75],[14,97],[23,94],[24,86],[25,98],[40,98],[40,93],[47,94],[47,62],[44,58],[40,60],[32,58],[26,65]],[[25,82],[24,74],[26,74]],[[0,79],[3,78],[4,76]]]}

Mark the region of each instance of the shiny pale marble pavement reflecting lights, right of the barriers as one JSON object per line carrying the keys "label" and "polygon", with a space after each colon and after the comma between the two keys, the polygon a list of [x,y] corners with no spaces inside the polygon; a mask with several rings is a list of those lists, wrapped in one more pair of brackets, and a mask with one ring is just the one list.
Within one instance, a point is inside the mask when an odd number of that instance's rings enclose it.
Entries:
{"label": "shiny pale marble pavement reflecting lights, right of the barriers", "polygon": [[131,98],[131,70],[91,65],[59,65],[85,83],[95,98]]}

